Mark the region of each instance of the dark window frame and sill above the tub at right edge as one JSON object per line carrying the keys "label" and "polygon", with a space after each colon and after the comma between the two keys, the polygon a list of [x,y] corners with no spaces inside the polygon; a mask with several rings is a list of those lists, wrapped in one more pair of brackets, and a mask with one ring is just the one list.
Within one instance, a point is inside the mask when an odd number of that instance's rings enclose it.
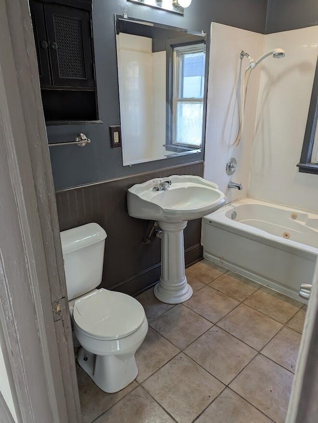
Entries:
{"label": "dark window frame and sill above the tub at right edge", "polygon": [[[297,167],[300,172],[318,174],[318,162],[312,162],[314,141],[318,125],[318,58],[314,77],[313,91],[309,106],[308,119],[304,137],[304,144],[300,162]],[[318,154],[317,154],[318,159]]]}

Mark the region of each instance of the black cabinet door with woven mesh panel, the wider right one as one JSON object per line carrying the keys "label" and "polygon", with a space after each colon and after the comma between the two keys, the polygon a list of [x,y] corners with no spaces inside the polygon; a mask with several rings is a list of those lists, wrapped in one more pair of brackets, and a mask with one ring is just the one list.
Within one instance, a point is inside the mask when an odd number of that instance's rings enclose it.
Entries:
{"label": "black cabinet door with woven mesh panel, the wider right one", "polygon": [[90,14],[45,4],[53,85],[93,87]]}

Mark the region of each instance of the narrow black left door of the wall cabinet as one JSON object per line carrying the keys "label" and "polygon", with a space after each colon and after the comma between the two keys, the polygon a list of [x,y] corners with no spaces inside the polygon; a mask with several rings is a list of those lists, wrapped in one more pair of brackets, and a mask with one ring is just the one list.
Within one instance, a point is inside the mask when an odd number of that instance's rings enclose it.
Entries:
{"label": "narrow black left door of the wall cabinet", "polygon": [[30,10],[41,85],[51,85],[48,42],[45,34],[43,5],[30,1]]}

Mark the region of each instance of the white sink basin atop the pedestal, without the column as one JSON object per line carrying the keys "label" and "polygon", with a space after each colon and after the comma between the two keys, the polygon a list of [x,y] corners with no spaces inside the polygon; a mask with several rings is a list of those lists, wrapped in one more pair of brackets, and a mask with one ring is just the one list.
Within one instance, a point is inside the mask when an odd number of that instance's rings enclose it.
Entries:
{"label": "white sink basin atop the pedestal, without the column", "polygon": [[156,179],[128,189],[128,213],[139,219],[182,222],[199,219],[220,208],[225,195],[215,183],[199,176],[173,175],[162,191],[153,191]]}

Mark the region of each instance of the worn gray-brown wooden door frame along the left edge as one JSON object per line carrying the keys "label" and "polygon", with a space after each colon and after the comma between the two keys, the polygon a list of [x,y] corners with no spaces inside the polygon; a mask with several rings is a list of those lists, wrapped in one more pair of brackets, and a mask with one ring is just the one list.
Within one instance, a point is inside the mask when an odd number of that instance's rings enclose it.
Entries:
{"label": "worn gray-brown wooden door frame along the left edge", "polygon": [[0,2],[0,346],[17,421],[81,421],[27,0]]}

